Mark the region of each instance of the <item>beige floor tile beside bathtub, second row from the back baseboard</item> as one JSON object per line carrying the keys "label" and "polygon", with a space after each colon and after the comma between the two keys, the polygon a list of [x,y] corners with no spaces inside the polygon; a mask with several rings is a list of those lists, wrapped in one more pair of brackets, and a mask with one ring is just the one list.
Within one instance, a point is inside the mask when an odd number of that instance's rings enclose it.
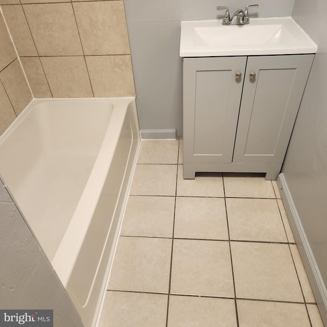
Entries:
{"label": "beige floor tile beside bathtub, second row from the back baseboard", "polygon": [[176,194],[177,165],[136,165],[130,195]]}

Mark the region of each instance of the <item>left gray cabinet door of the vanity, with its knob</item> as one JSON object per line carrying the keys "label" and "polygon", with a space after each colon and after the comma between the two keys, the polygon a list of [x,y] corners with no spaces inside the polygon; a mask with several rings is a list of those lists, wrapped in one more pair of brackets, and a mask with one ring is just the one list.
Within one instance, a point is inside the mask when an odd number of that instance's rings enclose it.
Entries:
{"label": "left gray cabinet door of the vanity, with its knob", "polygon": [[245,65],[246,57],[184,58],[184,162],[231,162]]}

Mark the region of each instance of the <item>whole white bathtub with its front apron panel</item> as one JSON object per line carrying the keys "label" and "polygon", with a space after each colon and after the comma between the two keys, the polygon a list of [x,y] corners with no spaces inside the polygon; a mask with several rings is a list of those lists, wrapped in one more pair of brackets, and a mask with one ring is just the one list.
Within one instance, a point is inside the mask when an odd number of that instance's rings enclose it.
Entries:
{"label": "whole white bathtub with its front apron panel", "polygon": [[0,137],[0,174],[87,327],[105,293],[139,142],[134,98],[33,100]]}

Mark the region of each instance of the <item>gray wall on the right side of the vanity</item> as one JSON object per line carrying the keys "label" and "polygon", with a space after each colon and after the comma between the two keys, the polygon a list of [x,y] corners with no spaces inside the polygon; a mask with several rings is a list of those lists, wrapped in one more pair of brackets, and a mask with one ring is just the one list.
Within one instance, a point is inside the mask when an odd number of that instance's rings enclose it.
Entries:
{"label": "gray wall on the right side of the vanity", "polygon": [[292,16],[317,43],[318,52],[282,172],[327,285],[327,2],[315,0],[310,10],[308,4],[296,0]]}

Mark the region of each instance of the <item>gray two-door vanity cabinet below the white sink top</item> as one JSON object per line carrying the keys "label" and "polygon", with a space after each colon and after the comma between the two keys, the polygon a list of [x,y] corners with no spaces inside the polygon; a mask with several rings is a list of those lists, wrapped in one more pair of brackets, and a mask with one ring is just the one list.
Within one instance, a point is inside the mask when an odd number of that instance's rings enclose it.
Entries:
{"label": "gray two-door vanity cabinet below the white sink top", "polygon": [[314,55],[184,58],[184,178],[281,170]]}

